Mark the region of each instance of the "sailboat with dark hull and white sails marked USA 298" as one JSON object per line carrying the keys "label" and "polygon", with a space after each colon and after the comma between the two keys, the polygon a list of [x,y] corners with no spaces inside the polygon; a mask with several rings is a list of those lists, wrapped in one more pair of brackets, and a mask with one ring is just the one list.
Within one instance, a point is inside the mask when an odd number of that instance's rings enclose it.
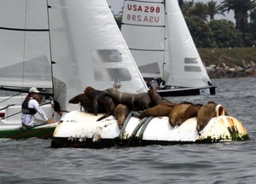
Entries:
{"label": "sailboat with dark hull and white sails marked USA 298", "polygon": [[121,32],[146,81],[163,96],[215,95],[177,0],[125,0]]}

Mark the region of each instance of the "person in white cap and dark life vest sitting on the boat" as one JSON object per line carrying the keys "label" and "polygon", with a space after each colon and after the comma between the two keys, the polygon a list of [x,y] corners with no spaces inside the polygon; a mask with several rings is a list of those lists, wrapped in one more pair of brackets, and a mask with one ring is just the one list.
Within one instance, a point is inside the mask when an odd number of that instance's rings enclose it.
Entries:
{"label": "person in white cap and dark life vest sitting on the boat", "polygon": [[[40,108],[38,101],[40,101],[38,89],[32,87],[28,90],[28,96],[22,103],[21,109],[21,123],[26,129],[31,129],[41,124],[51,124],[54,121],[47,118],[43,110]],[[36,119],[35,114],[39,113],[44,121]]]}

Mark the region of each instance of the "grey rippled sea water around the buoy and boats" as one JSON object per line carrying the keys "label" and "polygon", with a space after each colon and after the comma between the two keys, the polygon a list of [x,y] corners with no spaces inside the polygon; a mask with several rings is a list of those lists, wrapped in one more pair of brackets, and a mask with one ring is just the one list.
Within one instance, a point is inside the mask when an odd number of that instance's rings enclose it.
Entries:
{"label": "grey rippled sea water around the buoy and boats", "polygon": [[108,149],[50,148],[50,140],[0,139],[0,183],[255,183],[256,78],[216,79],[216,101],[247,128],[249,141]]}

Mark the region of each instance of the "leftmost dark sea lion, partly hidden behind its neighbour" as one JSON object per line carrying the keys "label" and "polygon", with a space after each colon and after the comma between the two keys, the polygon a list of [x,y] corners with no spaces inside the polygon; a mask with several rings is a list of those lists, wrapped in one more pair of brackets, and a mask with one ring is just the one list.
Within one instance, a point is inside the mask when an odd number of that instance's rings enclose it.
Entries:
{"label": "leftmost dark sea lion, partly hidden behind its neighbour", "polygon": [[[80,106],[84,108],[84,111],[91,112],[91,113],[94,112],[93,100],[85,94],[76,95],[72,99],[70,99],[68,102],[72,104],[80,103]],[[104,109],[102,109],[102,107],[100,107],[98,109],[98,112],[102,113],[105,111]]]}

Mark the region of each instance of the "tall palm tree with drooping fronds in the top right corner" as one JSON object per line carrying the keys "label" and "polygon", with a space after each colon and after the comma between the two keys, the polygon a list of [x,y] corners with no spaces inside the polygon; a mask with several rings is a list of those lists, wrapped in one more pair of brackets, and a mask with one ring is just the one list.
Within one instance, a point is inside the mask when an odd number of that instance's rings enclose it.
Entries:
{"label": "tall palm tree with drooping fronds in the top right corner", "polygon": [[227,11],[229,13],[230,10],[234,10],[236,29],[241,31],[243,39],[245,38],[248,24],[248,12],[253,11],[255,8],[255,0],[224,0],[220,6],[223,12]]}

